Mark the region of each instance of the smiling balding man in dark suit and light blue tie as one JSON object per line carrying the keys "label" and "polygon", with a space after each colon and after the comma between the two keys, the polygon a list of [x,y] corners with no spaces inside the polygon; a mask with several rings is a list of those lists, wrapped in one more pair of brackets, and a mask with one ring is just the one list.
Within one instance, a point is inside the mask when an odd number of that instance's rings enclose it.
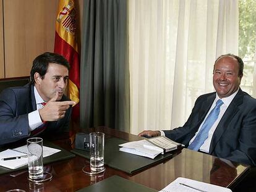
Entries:
{"label": "smiling balding man in dark suit and light blue tie", "polygon": [[[220,56],[215,61],[213,70],[216,92],[197,98],[183,127],[165,131],[142,131],[139,136],[166,135],[189,149],[234,162],[256,165],[256,99],[239,88],[243,69],[244,63],[240,57],[233,54]],[[218,100],[221,100],[221,105],[216,119],[208,123]],[[208,129],[205,125],[207,123],[210,125]],[[207,130],[207,134],[202,140],[203,130]]]}

